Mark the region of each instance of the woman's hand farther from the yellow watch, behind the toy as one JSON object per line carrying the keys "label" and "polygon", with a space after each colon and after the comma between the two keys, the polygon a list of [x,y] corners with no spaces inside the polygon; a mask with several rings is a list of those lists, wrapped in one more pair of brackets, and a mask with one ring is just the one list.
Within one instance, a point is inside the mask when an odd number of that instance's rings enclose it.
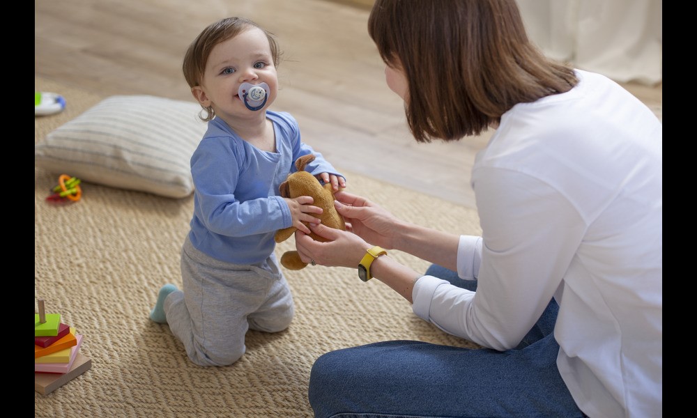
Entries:
{"label": "woman's hand farther from the yellow watch, behind the toy", "polygon": [[334,197],[334,206],[339,215],[344,217],[347,231],[372,245],[379,245],[384,249],[395,248],[395,237],[403,231],[401,221],[395,215],[355,194],[337,192]]}

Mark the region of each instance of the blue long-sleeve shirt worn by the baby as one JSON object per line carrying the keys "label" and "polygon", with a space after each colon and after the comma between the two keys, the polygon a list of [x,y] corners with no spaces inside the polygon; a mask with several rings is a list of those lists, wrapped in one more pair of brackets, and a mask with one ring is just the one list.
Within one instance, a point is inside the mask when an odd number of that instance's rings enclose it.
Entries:
{"label": "blue long-sleeve shirt worn by the baby", "polygon": [[305,167],[313,175],[342,176],[302,143],[291,114],[266,111],[266,117],[273,122],[275,153],[250,145],[222,119],[214,118],[191,157],[194,214],[189,237],[194,247],[217,260],[254,264],[273,252],[276,231],[292,225],[279,185],[297,171],[298,157],[315,155]]}

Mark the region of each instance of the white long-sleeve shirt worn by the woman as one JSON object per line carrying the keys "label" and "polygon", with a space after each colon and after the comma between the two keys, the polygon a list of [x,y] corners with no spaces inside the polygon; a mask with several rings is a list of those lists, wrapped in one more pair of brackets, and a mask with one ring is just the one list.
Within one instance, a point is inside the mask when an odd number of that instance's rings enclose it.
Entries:
{"label": "white long-sleeve shirt worn by the woman", "polygon": [[482,237],[457,270],[477,292],[419,279],[415,314],[507,350],[559,304],[557,364],[590,417],[660,417],[663,401],[663,125],[602,75],[518,104],[477,155]]}

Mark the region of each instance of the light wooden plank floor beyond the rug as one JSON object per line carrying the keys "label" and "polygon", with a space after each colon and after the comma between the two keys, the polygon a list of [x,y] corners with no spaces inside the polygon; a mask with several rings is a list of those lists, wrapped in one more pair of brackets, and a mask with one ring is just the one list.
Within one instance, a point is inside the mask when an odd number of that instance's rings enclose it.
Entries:
{"label": "light wooden plank floor beyond the rug", "polygon": [[[284,51],[272,109],[296,116],[307,144],[349,173],[474,207],[470,170],[490,133],[417,144],[367,34],[369,1],[355,1],[35,0],[34,72],[105,96],[193,102],[181,74],[189,43],[222,17],[250,17]],[[662,84],[627,88],[661,114]]]}

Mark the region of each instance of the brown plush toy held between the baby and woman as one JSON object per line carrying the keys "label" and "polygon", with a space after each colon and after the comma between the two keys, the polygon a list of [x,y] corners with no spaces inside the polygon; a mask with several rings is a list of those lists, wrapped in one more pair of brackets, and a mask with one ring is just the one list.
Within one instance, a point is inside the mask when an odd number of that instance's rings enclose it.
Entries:
{"label": "brown plush toy held between the baby and woman", "polygon": [[[334,190],[332,189],[332,185],[330,183],[322,185],[315,176],[305,171],[305,166],[307,166],[309,162],[312,162],[312,160],[314,160],[314,155],[312,154],[303,155],[296,160],[296,169],[298,169],[298,171],[289,174],[286,181],[281,183],[279,187],[281,196],[291,199],[298,196],[312,196],[314,199],[312,206],[319,206],[323,210],[320,215],[316,215],[316,217],[322,219],[322,224],[330,228],[346,231],[344,218],[339,215],[339,212],[337,212],[337,209],[334,207]],[[289,226],[286,229],[277,231],[275,241],[283,242],[287,240],[296,232],[296,229],[295,226]],[[310,233],[309,236],[317,241],[326,241],[314,232]],[[303,263],[302,260],[300,260],[298,251],[286,251],[281,256],[281,265],[288,270],[300,270],[305,268],[307,263]]]}

